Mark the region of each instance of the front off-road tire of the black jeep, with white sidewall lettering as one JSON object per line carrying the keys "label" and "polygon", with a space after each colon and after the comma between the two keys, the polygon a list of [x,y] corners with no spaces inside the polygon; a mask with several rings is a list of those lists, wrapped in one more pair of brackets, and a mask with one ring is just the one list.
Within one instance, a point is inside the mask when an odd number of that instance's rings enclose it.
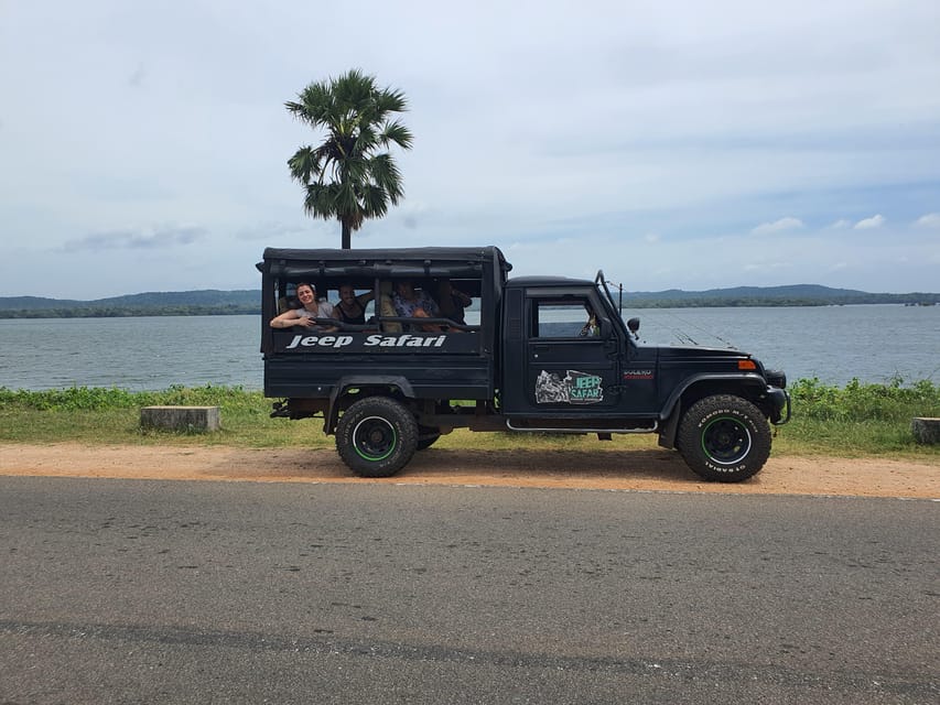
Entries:
{"label": "front off-road tire of the black jeep, with white sidewall lettering", "polygon": [[679,452],[695,475],[739,482],[756,475],[770,456],[770,426],[746,399],[715,394],[699,400],[679,424]]}

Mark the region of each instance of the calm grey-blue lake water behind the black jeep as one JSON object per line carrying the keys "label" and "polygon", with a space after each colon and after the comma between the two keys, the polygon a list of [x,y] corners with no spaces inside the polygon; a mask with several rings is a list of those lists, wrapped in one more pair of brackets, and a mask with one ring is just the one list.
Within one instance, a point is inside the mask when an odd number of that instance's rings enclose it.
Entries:
{"label": "calm grey-blue lake water behind the black jeep", "polygon": [[[940,306],[640,308],[640,340],[747,350],[790,380],[940,383]],[[469,316],[468,316],[469,317]],[[469,322],[469,321],[468,321]],[[0,319],[0,387],[263,384],[258,316]]]}

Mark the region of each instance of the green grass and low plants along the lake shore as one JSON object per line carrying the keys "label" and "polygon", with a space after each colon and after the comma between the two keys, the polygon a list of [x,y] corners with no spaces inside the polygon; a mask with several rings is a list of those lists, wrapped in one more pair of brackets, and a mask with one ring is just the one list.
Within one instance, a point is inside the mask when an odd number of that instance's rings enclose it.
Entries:
{"label": "green grass and low plants along the lake shore", "polygon": [[[780,426],[774,442],[777,455],[940,457],[940,447],[914,442],[914,416],[940,416],[940,386],[929,380],[887,384],[853,380],[832,387],[818,379],[792,384],[793,419]],[[219,406],[223,430],[216,433],[144,432],[140,408],[150,405]],[[63,442],[89,444],[228,445],[239,447],[333,447],[318,419],[299,422],[271,419],[271,400],[240,387],[171,387],[156,392],[73,387],[28,391],[0,387],[0,442]],[[594,436],[472,433],[457,430],[443,436],[442,448],[559,448],[619,451],[656,445],[651,435],[615,436],[597,443]]]}

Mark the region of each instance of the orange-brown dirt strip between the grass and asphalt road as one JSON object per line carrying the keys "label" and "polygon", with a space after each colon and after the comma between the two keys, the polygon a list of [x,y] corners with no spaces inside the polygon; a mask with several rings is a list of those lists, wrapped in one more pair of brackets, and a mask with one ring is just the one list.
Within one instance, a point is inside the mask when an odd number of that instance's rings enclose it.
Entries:
{"label": "orange-brown dirt strip between the grass and asphalt road", "polygon": [[677,453],[431,448],[398,476],[352,475],[332,449],[0,444],[0,475],[261,482],[479,485],[734,495],[940,498],[940,462],[771,457],[739,484],[705,482]]}

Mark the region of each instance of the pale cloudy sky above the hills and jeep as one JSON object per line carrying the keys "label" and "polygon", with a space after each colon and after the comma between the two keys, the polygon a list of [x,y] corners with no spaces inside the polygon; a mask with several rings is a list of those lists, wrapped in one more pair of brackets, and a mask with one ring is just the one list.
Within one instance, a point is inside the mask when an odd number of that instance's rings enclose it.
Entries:
{"label": "pale cloudy sky above the hills and jeep", "polygon": [[251,289],[338,247],[283,107],[409,99],[354,247],[497,245],[628,291],[940,291],[940,2],[0,0],[0,296]]}

